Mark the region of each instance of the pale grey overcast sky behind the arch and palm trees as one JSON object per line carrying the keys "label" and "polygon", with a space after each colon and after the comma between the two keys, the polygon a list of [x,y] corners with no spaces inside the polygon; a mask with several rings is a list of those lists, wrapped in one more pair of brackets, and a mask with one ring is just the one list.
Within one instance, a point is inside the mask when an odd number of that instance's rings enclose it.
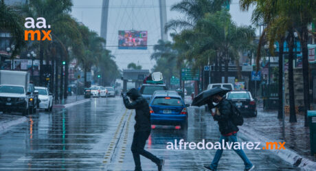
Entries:
{"label": "pale grey overcast sky behind the arch and palm trees", "polygon": [[[179,1],[181,0],[166,0],[168,21],[181,17],[178,12],[170,11],[171,5]],[[73,0],[73,3],[71,14],[100,35],[102,0]],[[232,19],[238,25],[250,25],[252,9],[249,12],[241,12],[238,3],[238,0],[232,1],[230,8]],[[122,50],[111,47],[118,44],[118,30],[132,29],[148,31],[147,50]],[[150,54],[153,53],[152,45],[155,45],[159,38],[158,0],[110,0],[106,46],[109,46],[107,49],[110,49],[115,56],[120,69],[126,69],[130,62],[142,65],[143,69],[152,69],[155,65],[155,61],[150,60]]]}

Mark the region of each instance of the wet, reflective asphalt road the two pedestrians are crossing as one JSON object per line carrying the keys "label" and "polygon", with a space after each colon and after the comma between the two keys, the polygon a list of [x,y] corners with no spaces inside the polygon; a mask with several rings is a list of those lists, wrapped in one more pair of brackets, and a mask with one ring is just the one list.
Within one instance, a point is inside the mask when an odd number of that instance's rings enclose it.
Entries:
{"label": "wet, reflective asphalt road the two pedestrians are crossing", "polygon": [[[29,115],[28,122],[0,133],[0,170],[133,170],[134,112],[121,98],[93,98],[68,109]],[[203,170],[215,150],[167,150],[166,143],[219,139],[218,126],[203,108],[190,107],[188,130],[155,128],[146,149],[166,159],[165,170]],[[240,141],[248,141],[241,134]],[[265,150],[245,150],[256,170],[298,170]],[[143,170],[157,170],[141,157]],[[225,150],[218,170],[243,170],[242,160]]]}

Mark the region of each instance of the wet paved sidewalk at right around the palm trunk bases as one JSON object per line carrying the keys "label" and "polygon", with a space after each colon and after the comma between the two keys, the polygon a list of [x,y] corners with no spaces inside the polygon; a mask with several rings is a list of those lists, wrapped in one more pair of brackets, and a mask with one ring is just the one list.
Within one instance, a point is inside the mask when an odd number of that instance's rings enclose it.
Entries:
{"label": "wet paved sidewalk at right around the palm trunk bases", "polygon": [[258,136],[271,141],[285,141],[286,149],[293,150],[306,159],[316,161],[315,156],[311,156],[310,131],[304,127],[304,115],[297,114],[297,122],[289,122],[289,114],[285,115],[285,130],[282,130],[282,119],[278,119],[278,111],[263,111],[258,105],[258,116],[245,118],[244,130],[257,133]]}

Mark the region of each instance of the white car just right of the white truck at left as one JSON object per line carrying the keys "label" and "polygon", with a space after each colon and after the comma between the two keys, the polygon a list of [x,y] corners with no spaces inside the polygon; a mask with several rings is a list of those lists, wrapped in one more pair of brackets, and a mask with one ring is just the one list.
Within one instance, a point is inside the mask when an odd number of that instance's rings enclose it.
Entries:
{"label": "white car just right of the white truck at left", "polygon": [[38,99],[40,100],[39,109],[45,109],[45,111],[52,111],[53,109],[53,94],[49,93],[46,87],[35,87],[38,91]]}

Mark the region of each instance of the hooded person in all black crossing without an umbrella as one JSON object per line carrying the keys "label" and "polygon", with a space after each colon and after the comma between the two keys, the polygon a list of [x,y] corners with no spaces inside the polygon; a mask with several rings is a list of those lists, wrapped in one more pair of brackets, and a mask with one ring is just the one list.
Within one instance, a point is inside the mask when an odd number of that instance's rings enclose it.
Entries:
{"label": "hooded person in all black crossing without an umbrella", "polygon": [[[126,95],[130,98],[131,102],[128,100]],[[150,135],[151,124],[150,124],[150,111],[148,102],[139,94],[137,89],[131,89],[127,93],[122,94],[123,102],[126,109],[135,109],[135,121],[134,126],[135,133],[133,136],[132,152],[135,161],[135,171],[142,171],[142,166],[140,163],[139,155],[150,159],[157,164],[158,170],[161,171],[163,167],[163,159],[155,157],[155,155],[144,150],[146,141]]]}

